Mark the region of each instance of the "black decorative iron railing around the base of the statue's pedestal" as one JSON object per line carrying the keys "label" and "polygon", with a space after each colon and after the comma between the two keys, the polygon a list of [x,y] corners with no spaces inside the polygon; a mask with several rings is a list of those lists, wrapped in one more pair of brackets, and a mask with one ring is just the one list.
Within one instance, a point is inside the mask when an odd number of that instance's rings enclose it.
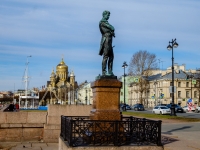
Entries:
{"label": "black decorative iron railing around the base of the statue's pedestal", "polygon": [[61,116],[60,136],[69,146],[162,145],[161,123],[145,118],[122,117],[121,121],[90,120]]}

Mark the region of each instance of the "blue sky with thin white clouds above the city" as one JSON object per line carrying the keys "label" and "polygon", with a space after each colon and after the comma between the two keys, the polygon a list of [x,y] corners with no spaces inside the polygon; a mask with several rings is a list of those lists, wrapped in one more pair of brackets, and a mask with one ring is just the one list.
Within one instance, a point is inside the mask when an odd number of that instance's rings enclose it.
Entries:
{"label": "blue sky with thin white clouds above the city", "polygon": [[30,88],[46,85],[62,56],[78,83],[94,81],[101,73],[98,24],[104,10],[115,27],[115,75],[139,50],[156,54],[161,68],[171,66],[166,47],[174,38],[174,62],[200,68],[199,8],[198,0],[1,0],[0,91],[24,88],[29,55]]}

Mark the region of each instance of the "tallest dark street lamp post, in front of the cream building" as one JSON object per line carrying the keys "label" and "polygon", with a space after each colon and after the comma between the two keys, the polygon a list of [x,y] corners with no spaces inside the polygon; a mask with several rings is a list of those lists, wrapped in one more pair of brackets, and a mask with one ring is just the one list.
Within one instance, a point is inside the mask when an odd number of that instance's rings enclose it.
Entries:
{"label": "tallest dark street lamp post, in front of the cream building", "polygon": [[175,105],[174,105],[174,56],[173,56],[173,48],[177,48],[178,43],[176,43],[176,39],[172,39],[169,41],[169,45],[167,46],[168,50],[172,50],[172,105],[171,105],[171,116],[176,116]]}

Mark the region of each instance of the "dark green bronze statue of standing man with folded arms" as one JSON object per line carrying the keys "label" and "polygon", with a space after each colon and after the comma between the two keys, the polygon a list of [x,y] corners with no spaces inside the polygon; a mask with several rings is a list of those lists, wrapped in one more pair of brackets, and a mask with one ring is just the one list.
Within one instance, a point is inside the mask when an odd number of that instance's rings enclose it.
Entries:
{"label": "dark green bronze statue of standing man with folded arms", "polygon": [[[108,23],[110,17],[110,12],[105,10],[103,12],[103,18],[99,22],[99,29],[102,34],[101,45],[99,50],[99,55],[103,55],[102,61],[102,76],[105,75],[114,75],[112,72],[113,69],[113,46],[112,46],[112,37],[115,37],[115,28]],[[106,71],[106,66],[108,64],[108,74]]]}

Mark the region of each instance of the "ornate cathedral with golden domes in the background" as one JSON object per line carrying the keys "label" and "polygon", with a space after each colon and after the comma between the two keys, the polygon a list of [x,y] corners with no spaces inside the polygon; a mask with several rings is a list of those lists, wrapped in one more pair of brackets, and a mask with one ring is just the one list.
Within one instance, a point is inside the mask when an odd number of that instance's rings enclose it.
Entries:
{"label": "ornate cathedral with golden domes in the background", "polygon": [[47,81],[47,88],[41,99],[41,105],[75,104],[77,88],[74,72],[68,73],[68,66],[62,58],[56,66],[56,71],[52,70],[50,81]]}

